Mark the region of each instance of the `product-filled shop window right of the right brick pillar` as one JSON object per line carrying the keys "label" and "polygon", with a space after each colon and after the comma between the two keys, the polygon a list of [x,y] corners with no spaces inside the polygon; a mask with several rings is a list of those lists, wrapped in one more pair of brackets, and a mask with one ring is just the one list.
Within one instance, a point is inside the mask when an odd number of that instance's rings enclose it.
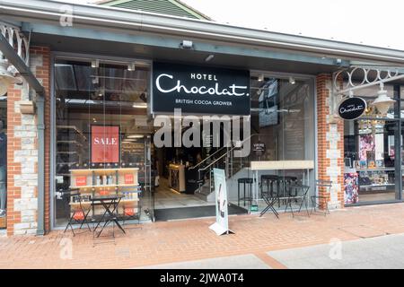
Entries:
{"label": "product-filled shop window right of the right brick pillar", "polygon": [[[345,121],[345,204],[367,204],[394,201],[398,198],[396,178],[400,174],[397,161],[399,140],[399,115],[392,105],[386,115],[380,115],[371,103],[378,87],[356,91],[368,103],[363,117]],[[397,99],[393,86],[385,89]],[[399,179],[400,180],[400,179]]]}

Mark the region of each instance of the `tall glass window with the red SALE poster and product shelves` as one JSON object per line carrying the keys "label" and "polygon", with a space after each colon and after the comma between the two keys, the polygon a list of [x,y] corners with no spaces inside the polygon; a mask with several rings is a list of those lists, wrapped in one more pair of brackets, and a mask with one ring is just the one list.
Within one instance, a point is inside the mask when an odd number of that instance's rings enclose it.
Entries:
{"label": "tall glass window with the red SALE poster and product shelves", "polygon": [[[56,60],[56,225],[66,225],[78,201],[88,204],[86,196],[119,193],[124,196],[119,214],[145,219],[151,214],[145,193],[145,154],[153,131],[146,109],[150,66],[127,67]],[[69,196],[73,189],[81,198]]]}

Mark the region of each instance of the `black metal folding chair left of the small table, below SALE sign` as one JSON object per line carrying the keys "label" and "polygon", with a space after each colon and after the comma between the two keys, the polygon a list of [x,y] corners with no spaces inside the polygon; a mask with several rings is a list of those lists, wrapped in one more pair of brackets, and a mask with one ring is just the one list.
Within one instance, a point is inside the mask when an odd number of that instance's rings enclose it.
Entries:
{"label": "black metal folding chair left of the small table, below SALE sign", "polygon": [[86,210],[83,207],[83,196],[80,194],[80,191],[78,189],[72,189],[71,191],[65,192],[65,195],[68,195],[70,198],[70,206],[72,210],[70,211],[71,216],[69,218],[69,221],[67,222],[64,232],[66,232],[66,230],[70,226],[73,232],[73,236],[75,236],[75,229],[73,228],[73,224],[80,224],[79,229],[81,230],[84,223],[87,225],[88,230],[92,231],[92,229],[90,228],[90,224],[87,221],[88,214],[92,211],[92,208],[91,206],[89,206],[88,210]]}

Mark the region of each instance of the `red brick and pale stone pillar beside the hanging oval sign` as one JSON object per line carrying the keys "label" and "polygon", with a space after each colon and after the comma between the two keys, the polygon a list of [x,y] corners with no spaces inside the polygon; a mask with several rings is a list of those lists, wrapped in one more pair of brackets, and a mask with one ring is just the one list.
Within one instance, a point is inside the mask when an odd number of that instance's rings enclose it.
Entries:
{"label": "red brick and pale stone pillar beside the hanging oval sign", "polygon": [[[330,74],[317,76],[317,132],[319,179],[332,180],[329,209],[344,207],[344,122],[332,117],[330,97],[332,77]],[[325,196],[326,189],[320,188],[319,195]]]}

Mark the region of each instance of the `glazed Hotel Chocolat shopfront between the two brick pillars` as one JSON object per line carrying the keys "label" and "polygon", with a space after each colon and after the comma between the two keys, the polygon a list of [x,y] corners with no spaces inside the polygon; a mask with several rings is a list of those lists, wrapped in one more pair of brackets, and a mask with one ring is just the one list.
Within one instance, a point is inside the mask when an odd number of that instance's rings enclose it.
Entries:
{"label": "glazed Hotel Chocolat shopfront between the two brick pillars", "polygon": [[[172,213],[191,218],[201,210],[214,215],[214,190],[201,194],[201,189],[209,188],[213,167],[226,169],[229,184],[234,185],[239,178],[251,178],[250,161],[314,159],[314,79],[310,76],[67,53],[55,53],[52,65],[51,129],[55,134],[50,158],[51,189],[56,193],[51,221],[56,228],[65,227],[75,210],[79,199],[69,196],[72,188],[81,190],[82,204],[90,204],[85,196],[125,194],[119,213],[130,213],[131,219],[137,215],[141,222],[176,219]],[[168,81],[160,80],[161,75],[167,75]],[[172,83],[189,93],[174,91],[165,98],[158,94],[172,90]],[[232,85],[233,91],[228,88]],[[206,92],[197,91],[197,86]],[[234,92],[240,96],[234,97]],[[179,118],[174,109],[180,110]],[[234,120],[239,116],[247,123]],[[163,135],[169,141],[163,144],[158,143],[163,128],[155,125],[159,117],[169,121]],[[233,129],[226,129],[227,125]],[[240,135],[234,133],[236,128],[241,129]],[[234,157],[229,152],[234,143],[247,139],[249,150],[258,143],[264,148]],[[229,167],[228,161],[235,163]],[[128,182],[126,177],[132,173]],[[261,173],[260,177],[268,174]],[[301,170],[269,173],[303,179]],[[133,188],[142,190],[135,199]],[[240,204],[236,191],[235,187],[229,190],[231,211],[248,213],[251,202]]]}

